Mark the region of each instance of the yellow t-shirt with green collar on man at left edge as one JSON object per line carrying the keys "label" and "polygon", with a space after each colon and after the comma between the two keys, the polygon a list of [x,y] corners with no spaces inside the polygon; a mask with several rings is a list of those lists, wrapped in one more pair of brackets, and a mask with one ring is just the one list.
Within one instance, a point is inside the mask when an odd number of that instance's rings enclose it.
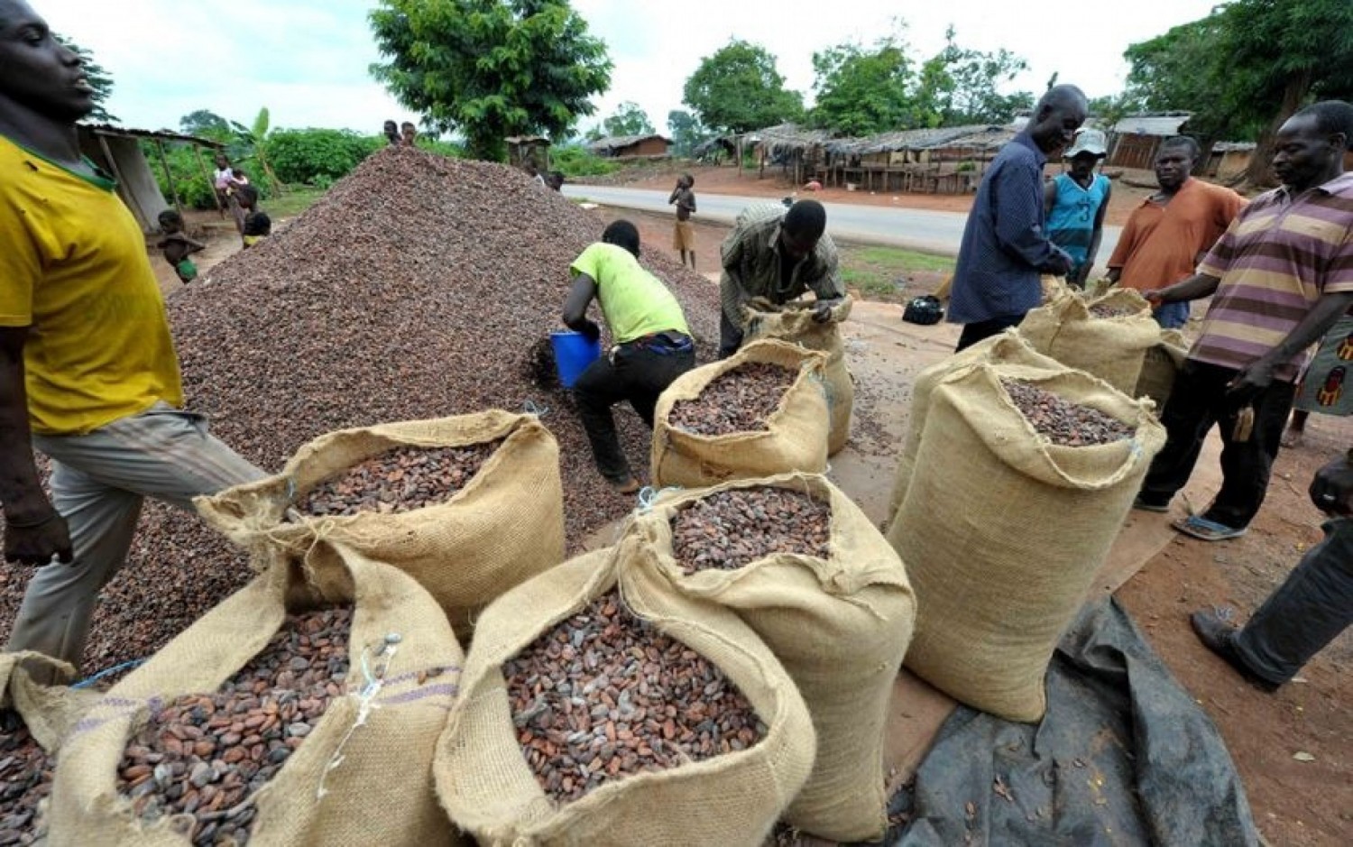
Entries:
{"label": "yellow t-shirt with green collar on man at left edge", "polygon": [[87,433],[183,384],[145,237],[111,181],[0,137],[0,326],[27,326],[28,418]]}

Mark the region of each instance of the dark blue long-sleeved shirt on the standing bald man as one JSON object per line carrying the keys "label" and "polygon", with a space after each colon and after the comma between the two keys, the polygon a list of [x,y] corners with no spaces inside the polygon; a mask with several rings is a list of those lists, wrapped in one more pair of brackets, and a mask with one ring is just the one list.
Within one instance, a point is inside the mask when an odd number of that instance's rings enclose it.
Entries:
{"label": "dark blue long-sleeved shirt on the standing bald man", "polygon": [[1043,296],[1040,273],[1065,273],[1066,253],[1043,231],[1043,156],[1020,133],[992,160],[958,249],[948,319],[978,323],[1023,315]]}

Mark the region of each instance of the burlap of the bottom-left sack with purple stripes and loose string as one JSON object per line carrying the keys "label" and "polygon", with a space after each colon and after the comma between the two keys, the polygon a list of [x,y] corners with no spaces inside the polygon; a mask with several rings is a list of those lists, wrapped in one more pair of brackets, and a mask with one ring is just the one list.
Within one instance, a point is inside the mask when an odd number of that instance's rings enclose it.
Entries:
{"label": "burlap of the bottom-left sack with purple stripes and loose string", "polygon": [[[306,741],[254,796],[250,844],[448,844],[459,840],[437,805],[432,754],[456,700],[460,645],[436,601],[411,576],[345,551],[352,602],[348,693],[329,704]],[[57,763],[51,844],[184,847],[165,817],[143,824],[118,792],[127,739],[150,701],[214,691],[283,624],[300,568],[265,567],[119,682],[70,733]],[[311,597],[313,603],[322,605]],[[398,635],[392,651],[376,648]]]}

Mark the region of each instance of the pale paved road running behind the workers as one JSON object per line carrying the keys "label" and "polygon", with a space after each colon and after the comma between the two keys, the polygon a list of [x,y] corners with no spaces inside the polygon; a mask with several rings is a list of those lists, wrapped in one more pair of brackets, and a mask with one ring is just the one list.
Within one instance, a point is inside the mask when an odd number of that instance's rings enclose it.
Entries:
{"label": "pale paved road running behind the workers", "polygon": [[[602,206],[672,214],[672,207],[667,204],[667,193],[662,191],[612,185],[564,185],[564,193],[572,198],[587,198]],[[721,193],[701,193],[698,198],[700,219],[720,223],[732,223],[737,212],[752,203],[774,203],[767,198]],[[967,215],[961,212],[827,203],[827,229],[833,237],[950,256],[958,253],[966,219]],[[1104,227],[1104,241],[1099,252],[1100,264],[1112,254],[1119,233],[1120,227]]]}

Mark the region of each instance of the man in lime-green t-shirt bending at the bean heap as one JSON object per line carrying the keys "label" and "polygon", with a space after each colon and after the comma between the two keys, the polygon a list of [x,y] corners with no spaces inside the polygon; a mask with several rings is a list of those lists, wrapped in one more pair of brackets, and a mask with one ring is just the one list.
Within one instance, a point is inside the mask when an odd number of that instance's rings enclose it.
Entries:
{"label": "man in lime-green t-shirt bending at the bean heap", "polygon": [[614,346],[574,383],[578,415],[587,430],[597,470],[621,494],[639,490],[616,434],[610,407],[629,400],[649,428],[658,396],[695,367],[695,345],[681,303],[656,276],[639,264],[639,230],[616,221],[601,241],[574,260],[574,287],[564,302],[564,325],[589,338],[601,327],[587,319],[595,298]]}

